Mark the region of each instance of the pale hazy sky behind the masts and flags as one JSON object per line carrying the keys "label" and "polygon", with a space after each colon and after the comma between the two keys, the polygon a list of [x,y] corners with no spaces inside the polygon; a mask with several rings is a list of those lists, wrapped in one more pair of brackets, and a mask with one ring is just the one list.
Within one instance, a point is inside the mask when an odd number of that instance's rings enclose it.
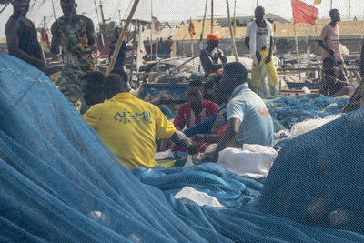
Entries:
{"label": "pale hazy sky behind the masts and flags", "polygon": [[[56,17],[62,15],[59,5],[59,0],[53,0],[56,6]],[[77,12],[86,15],[94,20],[95,25],[98,23],[95,0],[76,0],[78,4]],[[130,3],[133,0],[101,0],[104,8],[105,18],[110,18],[116,22],[119,19],[119,11],[121,18],[126,18],[130,11]],[[204,15],[205,0],[140,0],[136,9],[135,18],[150,19],[151,14],[151,1],[153,1],[153,15],[161,21],[166,20],[187,20],[190,17],[199,17]],[[234,3],[236,1],[237,15],[252,15],[254,8],[257,5],[256,0],[228,0],[230,5],[230,14],[233,14]],[[303,2],[313,5],[314,0],[302,0]],[[134,1],[133,1],[134,2]],[[343,18],[349,16],[349,2],[351,3],[351,18],[357,16],[359,19],[364,15],[363,0],[332,0],[334,8],[338,8]],[[35,5],[32,7],[32,5]],[[96,0],[99,5],[100,0]],[[207,15],[210,15],[210,3],[208,0]],[[266,13],[273,13],[283,16],[288,20],[292,18],[291,0],[258,0],[259,5],[266,8]],[[0,5],[0,9],[4,5]],[[330,0],[322,0],[319,8],[319,17],[326,17],[329,15]],[[0,38],[5,37],[5,23],[10,15],[13,13],[12,5],[9,5],[5,11],[0,15]],[[98,13],[100,15],[100,12]],[[226,0],[214,0],[214,15],[227,15]],[[54,22],[54,15],[52,10],[51,0],[31,0],[31,9],[28,13],[28,18],[34,21],[35,26],[38,27],[43,23],[45,18],[46,25],[50,28]],[[4,23],[4,24],[3,24]]]}

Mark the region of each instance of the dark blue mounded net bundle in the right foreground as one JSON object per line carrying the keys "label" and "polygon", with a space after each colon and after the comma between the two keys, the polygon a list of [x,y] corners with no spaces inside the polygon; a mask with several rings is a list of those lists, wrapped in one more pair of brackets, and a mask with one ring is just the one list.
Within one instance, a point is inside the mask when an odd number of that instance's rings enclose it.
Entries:
{"label": "dark blue mounded net bundle in the right foreground", "polygon": [[292,139],[260,205],[298,222],[364,233],[364,109]]}

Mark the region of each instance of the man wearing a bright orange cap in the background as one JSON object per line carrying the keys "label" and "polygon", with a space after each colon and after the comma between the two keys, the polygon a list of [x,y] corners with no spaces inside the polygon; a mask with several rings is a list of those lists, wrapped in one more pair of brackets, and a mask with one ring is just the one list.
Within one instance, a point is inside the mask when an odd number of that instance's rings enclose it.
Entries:
{"label": "man wearing a bright orange cap in the background", "polygon": [[[215,33],[207,35],[207,47],[201,51],[200,61],[205,71],[205,77],[209,74],[220,73],[220,69],[227,63],[227,57],[221,49],[218,48],[218,41],[222,38]],[[218,60],[221,63],[218,63]]]}

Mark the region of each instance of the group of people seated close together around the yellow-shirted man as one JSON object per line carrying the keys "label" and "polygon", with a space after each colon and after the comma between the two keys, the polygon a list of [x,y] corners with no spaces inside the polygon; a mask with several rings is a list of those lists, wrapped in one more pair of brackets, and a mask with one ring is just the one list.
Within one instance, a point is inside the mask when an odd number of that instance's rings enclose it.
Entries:
{"label": "group of people seated close together around the yellow-shirted man", "polygon": [[220,107],[203,98],[200,81],[191,81],[189,101],[180,106],[172,123],[157,106],[128,92],[125,71],[107,77],[92,72],[84,77],[82,90],[86,104],[93,106],[83,116],[126,166],[155,167],[157,139],[170,139],[174,150],[191,154],[202,152],[206,143],[217,143],[209,157],[217,161],[218,152],[226,147],[273,145],[271,116],[260,96],[249,89],[247,76],[238,62],[214,76],[214,97]]}

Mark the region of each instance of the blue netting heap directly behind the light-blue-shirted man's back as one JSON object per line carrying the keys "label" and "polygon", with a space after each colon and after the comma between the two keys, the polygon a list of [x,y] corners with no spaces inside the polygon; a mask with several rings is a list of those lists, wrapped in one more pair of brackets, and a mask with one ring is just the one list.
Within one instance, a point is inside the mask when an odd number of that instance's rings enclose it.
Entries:
{"label": "blue netting heap directly behind the light-blue-shirted man's back", "polygon": [[268,101],[267,107],[273,118],[275,132],[290,127],[298,122],[315,117],[326,117],[339,114],[348,103],[349,98],[329,96],[282,97]]}

